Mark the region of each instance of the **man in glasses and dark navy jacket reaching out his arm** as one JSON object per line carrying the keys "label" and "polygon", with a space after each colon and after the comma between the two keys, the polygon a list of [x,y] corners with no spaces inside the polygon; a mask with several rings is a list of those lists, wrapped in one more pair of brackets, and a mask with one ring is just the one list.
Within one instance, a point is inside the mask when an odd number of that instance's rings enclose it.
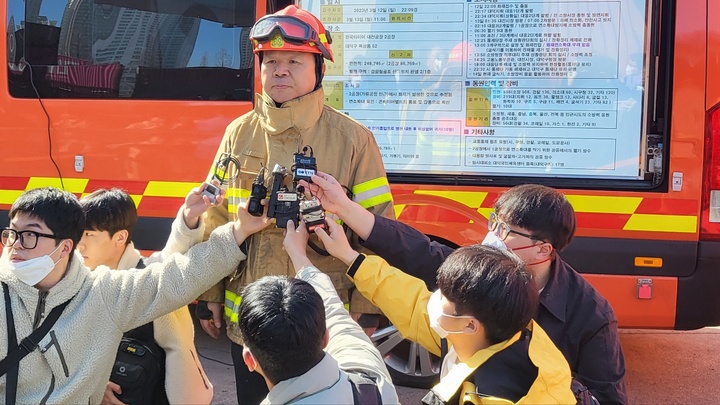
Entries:
{"label": "man in glasses and dark navy jacket reaching out his arm", "polygon": [[[372,250],[394,267],[436,289],[437,269],[455,248],[431,241],[398,221],[365,213],[332,176],[318,172],[307,186]],[[484,245],[505,248],[527,265],[540,290],[535,320],[565,355],[579,399],[587,390],[601,404],[625,404],[625,358],[610,303],[557,254],[575,235],[575,212],[564,195],[524,184],[503,193],[488,221]]]}

